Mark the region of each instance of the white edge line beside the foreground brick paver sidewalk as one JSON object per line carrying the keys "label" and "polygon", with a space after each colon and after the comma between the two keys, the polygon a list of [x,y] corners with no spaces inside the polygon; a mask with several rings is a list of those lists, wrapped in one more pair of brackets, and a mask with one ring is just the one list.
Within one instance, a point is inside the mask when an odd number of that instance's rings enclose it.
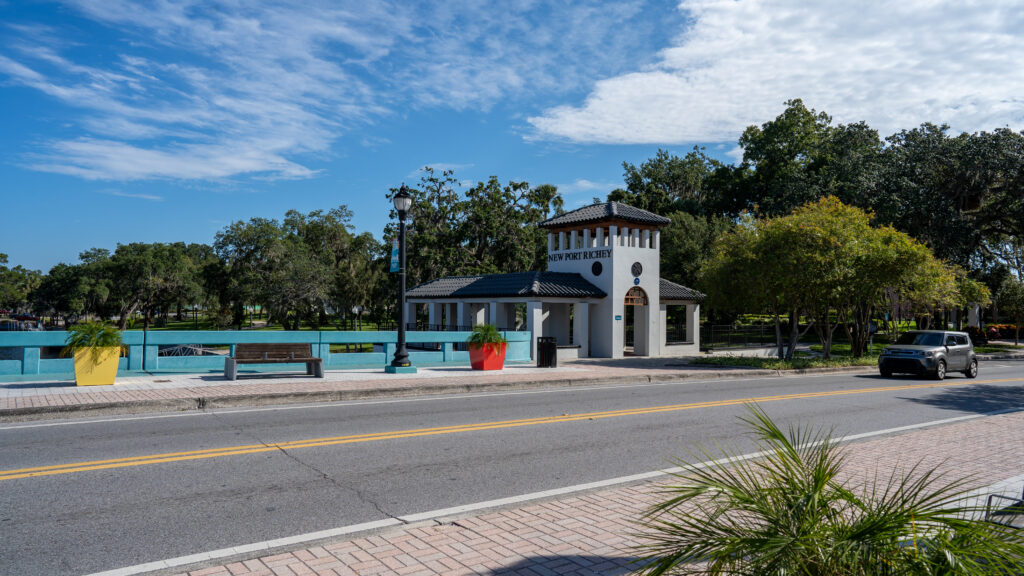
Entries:
{"label": "white edge line beside the foreground brick paver sidewalk", "polygon": [[[913,429],[926,428],[931,426],[938,426],[943,424],[951,424],[954,422],[962,422],[964,420],[974,420],[977,418],[984,418],[986,416],[996,416],[999,414],[1008,414],[1011,412],[1024,411],[1024,407],[1009,408],[1006,410],[997,410],[995,412],[986,412],[984,414],[972,414],[969,416],[957,416],[955,418],[944,418],[942,420],[932,420],[930,422],[922,422],[920,424],[911,424],[907,426],[899,426],[895,428],[886,428],[882,430],[874,430],[869,433],[857,434],[852,436],[847,436],[841,439],[841,442],[850,442],[854,440],[861,440],[864,438],[871,438],[877,436],[886,436],[889,434],[908,431]],[[742,454],[733,458],[723,458],[719,460],[709,460],[706,462],[700,462],[695,464],[695,467],[708,467],[715,466],[728,462],[738,462],[741,460],[749,460],[751,458],[758,458],[763,456],[764,452],[752,452],[749,454]],[[151,562],[146,564],[138,564],[135,566],[128,566],[125,568],[119,568],[116,570],[108,570],[105,572],[96,572],[94,574],[89,574],[87,576],[134,576],[136,574],[144,574],[146,572],[152,572],[155,570],[163,570],[169,568],[178,568],[182,566],[187,566],[189,564],[196,564],[199,562],[209,562],[220,559],[226,559],[234,557],[238,554],[258,552],[263,550],[270,550],[272,548],[278,548],[281,546],[297,546],[300,544],[306,544],[309,542],[314,542],[316,540],[323,540],[326,538],[334,538],[338,536],[346,536],[350,534],[355,534],[358,532],[365,532],[369,530],[378,530],[381,528],[390,528],[395,526],[402,526],[407,524],[413,524],[417,522],[425,521],[439,521],[442,519],[449,519],[456,516],[463,516],[469,512],[478,512],[485,509],[505,507],[517,504],[524,504],[526,502],[531,502],[536,500],[543,500],[554,498],[556,496],[567,496],[570,494],[577,494],[581,492],[590,492],[593,490],[601,488],[609,488],[612,486],[618,486],[623,484],[632,484],[635,482],[640,482],[644,480],[653,480],[655,478],[660,478],[671,474],[678,474],[682,471],[681,467],[671,467],[664,468],[659,470],[652,470],[648,472],[622,476],[618,478],[611,478],[608,480],[602,480],[598,482],[589,482],[586,484],[577,484],[574,486],[566,486],[564,488],[556,488],[553,490],[544,490],[541,492],[531,492],[529,494],[521,494],[519,496],[511,496],[508,498],[499,498],[497,500],[485,500],[482,502],[474,502],[471,504],[463,504],[460,506],[453,506],[449,508],[438,508],[436,510],[428,510],[424,512],[417,512],[398,517],[398,519],[385,519],[375,522],[366,522],[361,524],[352,524],[349,526],[343,526],[340,528],[333,528],[330,530],[321,530],[318,532],[309,532],[306,534],[298,534],[295,536],[288,536],[285,538],[278,538],[274,540],[265,540],[263,542],[255,542],[252,544],[246,544],[243,546],[233,546],[229,548],[220,548],[218,550],[212,550],[208,552],[201,552],[197,554],[189,554],[184,557],[172,558],[168,560],[163,560],[159,562]],[[991,485],[992,487],[1005,487],[1008,483],[1014,483],[1019,479],[1024,477],[1014,477],[1011,479],[1006,479],[1001,482]],[[975,491],[980,493],[982,490]]]}

